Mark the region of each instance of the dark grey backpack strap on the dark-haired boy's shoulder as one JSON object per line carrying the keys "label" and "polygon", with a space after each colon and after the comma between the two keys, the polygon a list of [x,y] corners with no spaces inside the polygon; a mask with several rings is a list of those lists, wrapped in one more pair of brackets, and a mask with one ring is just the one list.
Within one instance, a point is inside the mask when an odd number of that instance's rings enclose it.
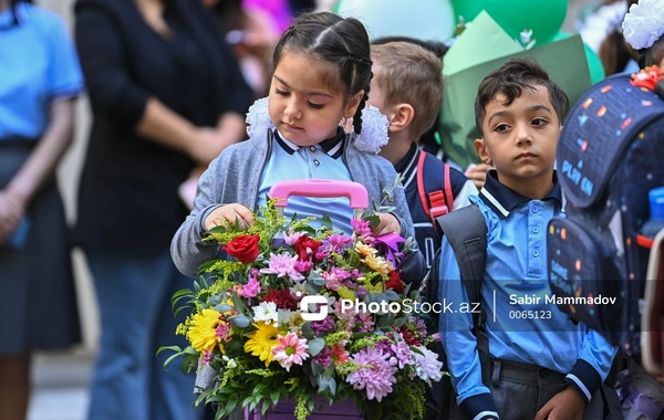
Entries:
{"label": "dark grey backpack strap on the dark-haired boy's shoulder", "polygon": [[[487,260],[487,223],[477,206],[460,208],[436,219],[459,264],[461,280],[471,306],[481,302],[481,280]],[[471,307],[474,309],[474,307]],[[489,387],[491,368],[486,312],[473,313],[474,334],[481,364],[481,381]]]}

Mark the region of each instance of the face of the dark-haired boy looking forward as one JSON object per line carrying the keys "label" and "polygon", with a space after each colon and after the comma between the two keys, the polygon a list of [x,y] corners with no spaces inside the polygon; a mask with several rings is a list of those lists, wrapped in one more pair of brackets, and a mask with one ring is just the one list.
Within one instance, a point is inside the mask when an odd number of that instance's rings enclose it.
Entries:
{"label": "face of the dark-haired boy looking forward", "polygon": [[561,129],[549,91],[533,87],[523,88],[510,105],[505,105],[505,94],[494,96],[485,107],[484,138],[475,140],[479,157],[496,167],[500,182],[519,192],[551,183]]}

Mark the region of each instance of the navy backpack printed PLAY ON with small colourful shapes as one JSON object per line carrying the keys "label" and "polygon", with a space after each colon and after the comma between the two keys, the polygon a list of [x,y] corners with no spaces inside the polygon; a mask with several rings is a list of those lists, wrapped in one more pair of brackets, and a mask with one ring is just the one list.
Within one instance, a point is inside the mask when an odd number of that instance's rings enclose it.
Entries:
{"label": "navy backpack printed PLAY ON with small colourful shapes", "polygon": [[547,234],[551,302],[637,353],[653,243],[640,231],[664,186],[664,81],[650,71],[605,78],[572,107],[557,151],[566,216]]}

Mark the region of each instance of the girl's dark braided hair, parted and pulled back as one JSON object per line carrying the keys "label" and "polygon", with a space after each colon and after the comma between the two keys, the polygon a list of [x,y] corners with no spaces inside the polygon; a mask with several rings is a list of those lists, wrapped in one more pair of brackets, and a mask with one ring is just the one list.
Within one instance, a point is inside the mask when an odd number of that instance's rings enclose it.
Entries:
{"label": "girl's dark braided hair, parted and pulled back", "polygon": [[364,96],[353,116],[353,129],[362,132],[362,109],[369,98],[371,53],[369,35],[354,18],[341,18],[330,12],[304,13],[295,18],[274,48],[272,72],[283,52],[301,53],[329,64],[322,74],[324,83],[333,91],[343,92],[347,99],[364,91]]}

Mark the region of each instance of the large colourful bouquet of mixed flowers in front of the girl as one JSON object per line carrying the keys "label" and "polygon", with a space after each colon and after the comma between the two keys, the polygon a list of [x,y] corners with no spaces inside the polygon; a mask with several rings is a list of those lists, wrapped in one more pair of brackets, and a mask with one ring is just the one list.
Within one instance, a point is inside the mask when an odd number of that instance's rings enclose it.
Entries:
{"label": "large colourful bouquet of mixed flowers in front of the girl", "polygon": [[440,379],[442,363],[426,348],[439,336],[427,336],[417,293],[400,277],[412,242],[372,237],[371,217],[353,219],[350,237],[329,218],[313,229],[313,218],[289,220],[274,202],[246,230],[208,232],[229,258],[204,264],[194,291],[174,295],[174,307],[186,302],[177,311],[191,309],[177,329],[190,346],[159,351],[214,370],[197,403],[218,403],[217,419],[290,400],[304,420],[317,396],[352,398],[369,419],[422,418],[424,382]]}

